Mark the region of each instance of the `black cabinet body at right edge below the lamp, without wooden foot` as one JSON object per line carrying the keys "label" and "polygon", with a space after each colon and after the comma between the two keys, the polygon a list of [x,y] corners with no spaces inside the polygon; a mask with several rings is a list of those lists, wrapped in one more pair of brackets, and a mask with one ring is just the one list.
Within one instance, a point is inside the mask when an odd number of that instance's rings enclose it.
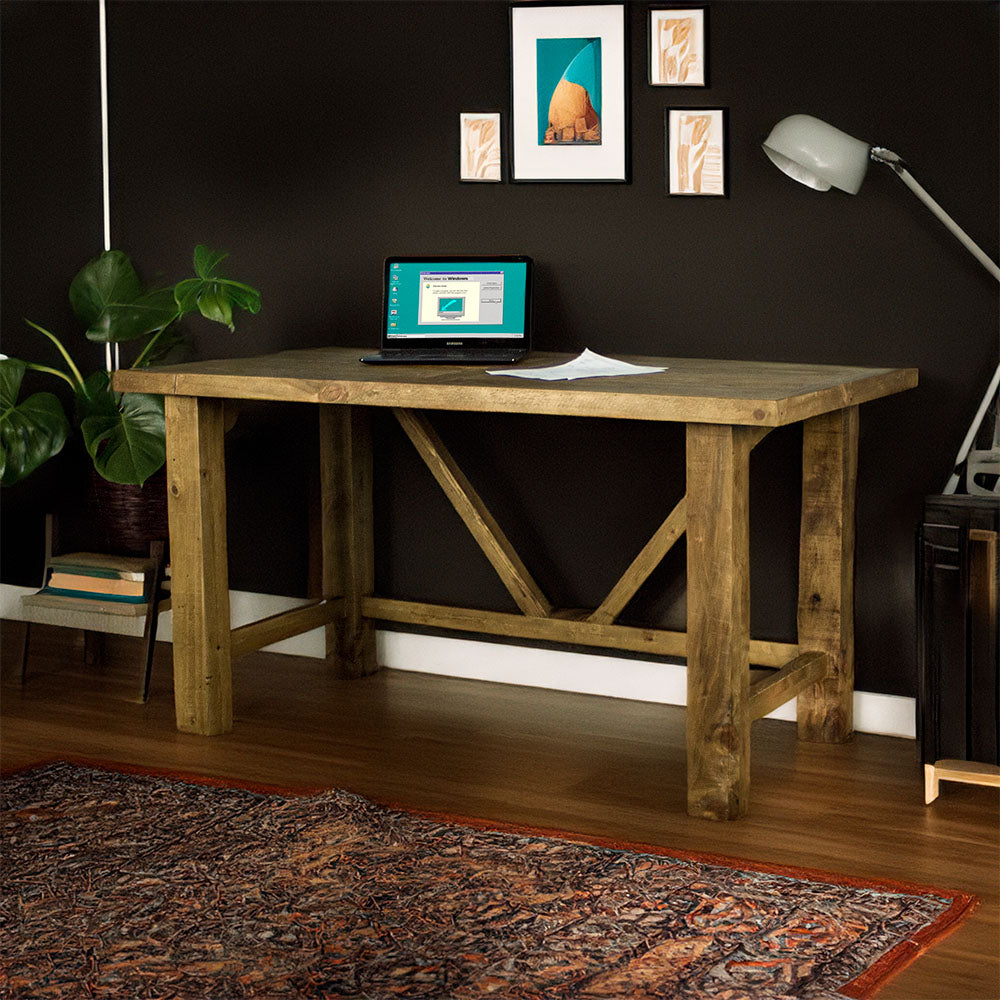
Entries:
{"label": "black cabinet body at right edge below the lamp, without wooden foot", "polygon": [[917,540],[919,732],[925,764],[1000,764],[1000,497],[934,496]]}

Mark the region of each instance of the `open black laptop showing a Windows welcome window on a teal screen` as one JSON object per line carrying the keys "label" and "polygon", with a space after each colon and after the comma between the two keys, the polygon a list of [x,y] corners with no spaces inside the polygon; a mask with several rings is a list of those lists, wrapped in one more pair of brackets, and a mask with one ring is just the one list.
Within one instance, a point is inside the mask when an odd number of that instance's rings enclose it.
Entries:
{"label": "open black laptop showing a Windows welcome window on a teal screen", "polygon": [[523,256],[389,257],[382,345],[366,364],[509,364],[531,342],[532,261]]}

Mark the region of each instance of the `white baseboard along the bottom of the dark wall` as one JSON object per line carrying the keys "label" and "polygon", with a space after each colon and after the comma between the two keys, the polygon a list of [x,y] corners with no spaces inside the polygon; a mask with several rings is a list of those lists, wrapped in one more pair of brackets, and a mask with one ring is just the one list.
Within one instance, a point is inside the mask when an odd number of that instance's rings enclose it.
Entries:
{"label": "white baseboard along the bottom of the dark wall", "polygon": [[[21,597],[33,587],[0,584],[0,618],[21,620]],[[233,627],[294,608],[302,602],[294,597],[230,591]],[[160,616],[157,639],[169,642],[173,615]],[[605,698],[630,698],[664,705],[683,705],[687,698],[683,663],[652,663],[648,660],[566,652],[533,646],[510,646],[479,639],[462,639],[411,632],[377,633],[378,661],[394,670],[464,677],[470,680],[521,684]],[[304,632],[265,647],[276,653],[322,657],[322,629]],[[767,716],[795,720],[795,702],[790,701]],[[854,692],[854,726],[859,732],[916,738],[916,699],[873,691]]]}

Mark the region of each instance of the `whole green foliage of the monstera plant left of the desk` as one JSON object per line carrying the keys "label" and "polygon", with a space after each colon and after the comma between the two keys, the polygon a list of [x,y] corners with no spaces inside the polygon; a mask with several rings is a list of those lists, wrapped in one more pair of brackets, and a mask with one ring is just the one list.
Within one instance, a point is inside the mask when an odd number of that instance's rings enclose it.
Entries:
{"label": "whole green foliage of the monstera plant left of the desk", "polygon": [[[193,277],[167,288],[148,289],[124,253],[107,250],[73,279],[70,304],[87,340],[131,343],[135,353],[131,367],[145,367],[162,360],[183,340],[177,325],[183,316],[198,312],[234,330],[234,308],[251,313],[260,309],[255,288],[221,275],[226,256],[198,246]],[[0,484],[19,482],[57,454],[74,425],[104,479],[144,483],[166,460],[163,398],[115,392],[106,368],[84,376],[54,333],[26,322],[55,345],[65,367],[0,356]],[[74,401],[72,424],[52,393],[37,392],[19,400],[27,369],[68,383]]]}

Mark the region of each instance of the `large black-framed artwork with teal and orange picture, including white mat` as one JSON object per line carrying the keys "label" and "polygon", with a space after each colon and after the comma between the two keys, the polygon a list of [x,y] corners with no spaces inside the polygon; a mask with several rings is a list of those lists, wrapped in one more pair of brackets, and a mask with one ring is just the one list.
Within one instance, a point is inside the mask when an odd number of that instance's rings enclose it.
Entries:
{"label": "large black-framed artwork with teal and orange picture, including white mat", "polygon": [[624,4],[510,11],[511,179],[626,183]]}

